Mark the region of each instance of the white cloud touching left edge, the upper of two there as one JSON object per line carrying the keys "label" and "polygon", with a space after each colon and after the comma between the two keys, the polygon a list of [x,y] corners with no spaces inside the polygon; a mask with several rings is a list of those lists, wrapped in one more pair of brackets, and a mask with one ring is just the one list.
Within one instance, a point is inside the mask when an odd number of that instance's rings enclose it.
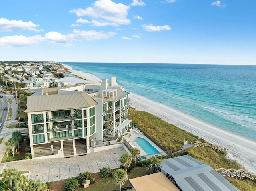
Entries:
{"label": "white cloud touching left edge, the upper of two there", "polygon": [[42,29],[36,29],[39,25],[34,24],[33,22],[24,22],[22,20],[9,20],[6,18],[0,18],[0,30],[2,32],[12,32],[19,30],[31,30],[31,31],[42,31]]}

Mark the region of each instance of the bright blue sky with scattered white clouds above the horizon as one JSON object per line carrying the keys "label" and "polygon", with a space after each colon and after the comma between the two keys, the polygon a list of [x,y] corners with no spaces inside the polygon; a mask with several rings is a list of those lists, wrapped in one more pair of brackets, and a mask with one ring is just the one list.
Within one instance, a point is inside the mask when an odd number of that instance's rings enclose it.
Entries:
{"label": "bright blue sky with scattered white clouds above the horizon", "polygon": [[256,1],[0,0],[0,61],[256,65]]}

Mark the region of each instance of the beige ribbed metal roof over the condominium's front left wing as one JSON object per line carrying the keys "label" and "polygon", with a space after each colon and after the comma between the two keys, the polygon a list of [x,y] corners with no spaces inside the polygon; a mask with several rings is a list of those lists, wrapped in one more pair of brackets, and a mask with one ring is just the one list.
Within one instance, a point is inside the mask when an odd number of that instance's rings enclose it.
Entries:
{"label": "beige ribbed metal roof over the condominium's front left wing", "polygon": [[97,102],[86,92],[28,96],[27,110],[25,112],[86,108],[96,104]]}

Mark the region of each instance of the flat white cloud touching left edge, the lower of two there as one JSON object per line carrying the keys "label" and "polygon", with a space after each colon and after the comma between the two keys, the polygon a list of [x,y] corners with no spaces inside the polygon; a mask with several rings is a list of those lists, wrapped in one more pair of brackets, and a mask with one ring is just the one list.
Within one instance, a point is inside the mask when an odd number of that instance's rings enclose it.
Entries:
{"label": "flat white cloud touching left edge, the lower of two there", "polygon": [[38,44],[43,41],[43,37],[40,35],[35,36],[4,36],[0,38],[0,47],[7,48],[7,47],[22,47],[22,46],[29,46],[33,44]]}

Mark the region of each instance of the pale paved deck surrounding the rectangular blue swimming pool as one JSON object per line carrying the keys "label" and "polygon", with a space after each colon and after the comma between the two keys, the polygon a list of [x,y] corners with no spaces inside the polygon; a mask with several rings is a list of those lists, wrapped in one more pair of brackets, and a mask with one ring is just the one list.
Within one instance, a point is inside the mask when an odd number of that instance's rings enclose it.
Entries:
{"label": "pale paved deck surrounding the rectangular blue swimming pool", "polygon": [[[154,156],[154,155],[148,155],[146,154],[146,152],[140,148],[140,146],[134,142],[134,140],[137,138],[137,137],[140,137],[140,138],[144,138],[145,140],[147,140],[152,146],[154,146],[154,148],[156,148],[161,154],[163,155],[166,155],[165,152],[160,149],[156,144],[154,144],[149,138],[147,138],[146,136],[144,136],[143,134],[140,134],[139,133],[136,133],[135,132],[135,128],[133,128],[129,133],[128,135],[126,135],[124,137],[125,140],[127,141],[130,141],[130,145],[134,145],[136,148],[138,148],[140,150],[140,156],[145,156],[147,159],[149,159],[151,156]],[[158,154],[158,155],[161,155],[161,154]]]}

